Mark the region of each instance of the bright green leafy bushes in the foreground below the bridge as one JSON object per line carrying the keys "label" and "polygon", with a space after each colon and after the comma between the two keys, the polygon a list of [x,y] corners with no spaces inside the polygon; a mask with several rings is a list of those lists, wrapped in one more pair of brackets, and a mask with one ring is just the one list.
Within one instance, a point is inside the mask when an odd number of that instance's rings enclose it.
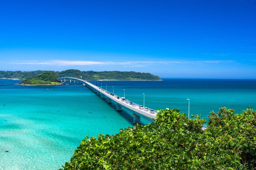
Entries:
{"label": "bright green leafy bushes in the foreground below the bridge", "polygon": [[[208,128],[201,115],[161,110],[155,122],[120,129],[115,135],[85,137],[64,170],[179,170],[256,168],[256,111],[220,108]],[[61,169],[59,169],[61,170]]]}

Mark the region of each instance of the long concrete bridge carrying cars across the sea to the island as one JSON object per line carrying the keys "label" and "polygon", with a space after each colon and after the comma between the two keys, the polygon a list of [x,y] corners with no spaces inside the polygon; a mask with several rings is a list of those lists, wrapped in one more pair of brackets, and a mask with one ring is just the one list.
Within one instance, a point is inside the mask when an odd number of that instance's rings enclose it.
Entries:
{"label": "long concrete bridge carrying cars across the sea to the island", "polygon": [[[61,79],[61,81],[66,82],[67,81],[80,81],[81,83],[83,82],[85,86],[87,86],[88,88],[90,88],[92,91],[94,91],[95,93],[97,93],[97,95],[100,95],[101,98],[106,98],[108,103],[112,103],[114,102],[116,104],[116,110],[117,111],[121,111],[122,107],[127,108],[128,110],[130,110],[133,114],[133,123],[134,124],[140,124],[140,118],[144,118],[150,122],[155,121],[156,119],[156,115],[157,115],[157,111],[153,110],[153,109],[149,109],[148,111],[143,109],[140,109],[140,105],[133,103],[131,101],[129,101],[128,103],[126,103],[126,101],[122,101],[122,98],[112,94],[111,92],[108,92],[107,90],[104,90],[92,83],[90,83],[87,80],[82,80],[82,79],[78,79],[78,78],[74,78],[74,77],[61,77],[59,78]],[[130,102],[132,103],[132,105],[130,104]],[[202,130],[205,130],[207,128],[207,125],[202,125]]]}

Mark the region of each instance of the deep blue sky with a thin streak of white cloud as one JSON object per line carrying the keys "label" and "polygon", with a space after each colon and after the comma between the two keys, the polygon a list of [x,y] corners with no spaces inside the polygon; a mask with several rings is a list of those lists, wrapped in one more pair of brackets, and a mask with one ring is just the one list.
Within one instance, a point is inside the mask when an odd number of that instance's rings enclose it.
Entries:
{"label": "deep blue sky with a thin streak of white cloud", "polygon": [[0,1],[0,70],[256,78],[256,1]]}

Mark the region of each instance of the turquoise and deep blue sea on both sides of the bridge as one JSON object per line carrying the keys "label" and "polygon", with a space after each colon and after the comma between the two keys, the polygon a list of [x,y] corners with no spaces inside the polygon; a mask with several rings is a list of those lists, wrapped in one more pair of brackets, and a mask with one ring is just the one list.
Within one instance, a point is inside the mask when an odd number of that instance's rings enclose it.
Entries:
{"label": "turquoise and deep blue sea on both sides of the bridge", "polygon": [[[69,161],[86,136],[115,134],[133,126],[132,114],[80,83],[22,86],[0,79],[0,170],[56,170]],[[256,109],[256,80],[163,79],[163,81],[96,81],[120,97],[160,110],[176,108],[208,120],[220,107],[236,113]],[[125,92],[125,94],[124,94]],[[150,122],[141,118],[142,124]],[[9,152],[6,152],[9,151]]]}

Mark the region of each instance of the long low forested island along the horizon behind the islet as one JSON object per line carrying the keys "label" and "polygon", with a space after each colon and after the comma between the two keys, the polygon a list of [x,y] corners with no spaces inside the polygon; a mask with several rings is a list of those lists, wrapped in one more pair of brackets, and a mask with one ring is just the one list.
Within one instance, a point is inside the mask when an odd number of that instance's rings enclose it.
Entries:
{"label": "long low forested island along the horizon behind the islet", "polygon": [[[29,79],[42,74],[45,71],[0,71],[0,78]],[[134,71],[80,71],[69,69],[65,71],[52,71],[57,77],[74,77],[89,80],[161,80],[150,73]]]}

